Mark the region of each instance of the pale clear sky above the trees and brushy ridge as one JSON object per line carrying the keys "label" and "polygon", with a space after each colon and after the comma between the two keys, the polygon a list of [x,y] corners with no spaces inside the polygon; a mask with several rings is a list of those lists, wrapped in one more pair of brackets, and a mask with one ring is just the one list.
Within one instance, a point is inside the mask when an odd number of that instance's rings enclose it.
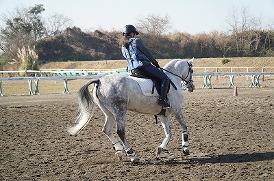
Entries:
{"label": "pale clear sky above the trees and brushy ridge", "polygon": [[[104,29],[121,30],[125,25],[136,25],[138,18],[149,14],[168,15],[174,31],[190,34],[227,31],[227,16],[234,7],[240,12],[247,8],[249,14],[260,17],[264,26],[274,26],[273,0],[0,0],[0,14],[12,12],[16,6],[43,4],[47,18],[53,12],[64,14],[82,31]],[[0,21],[0,26],[5,24]]]}

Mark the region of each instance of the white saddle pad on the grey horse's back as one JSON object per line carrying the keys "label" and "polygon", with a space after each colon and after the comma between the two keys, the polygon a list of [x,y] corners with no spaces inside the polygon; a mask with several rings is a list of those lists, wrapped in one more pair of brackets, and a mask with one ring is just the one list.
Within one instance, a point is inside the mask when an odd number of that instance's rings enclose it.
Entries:
{"label": "white saddle pad on the grey horse's back", "polygon": [[138,78],[134,76],[132,76],[132,79],[138,82],[140,88],[142,89],[142,94],[144,94],[145,96],[155,96],[155,97],[159,96],[155,87],[154,87],[153,94],[151,94],[152,87],[153,87],[153,81],[151,81],[151,79],[143,79],[143,78]]}

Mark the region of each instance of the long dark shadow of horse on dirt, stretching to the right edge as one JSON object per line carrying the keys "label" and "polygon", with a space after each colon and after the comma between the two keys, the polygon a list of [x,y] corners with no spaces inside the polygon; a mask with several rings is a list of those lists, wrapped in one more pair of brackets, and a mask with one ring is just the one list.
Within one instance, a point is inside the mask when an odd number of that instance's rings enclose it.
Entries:
{"label": "long dark shadow of horse on dirt, stretching to the right edge", "polygon": [[252,153],[252,154],[219,154],[206,156],[186,156],[183,159],[173,158],[169,161],[158,161],[144,163],[144,165],[181,165],[181,164],[206,164],[206,163],[247,163],[260,161],[273,161],[274,152]]}

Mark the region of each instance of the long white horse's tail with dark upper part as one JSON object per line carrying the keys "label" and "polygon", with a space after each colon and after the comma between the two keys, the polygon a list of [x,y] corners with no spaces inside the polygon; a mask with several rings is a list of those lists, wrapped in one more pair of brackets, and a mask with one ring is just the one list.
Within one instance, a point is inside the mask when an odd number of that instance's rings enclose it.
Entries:
{"label": "long white horse's tail with dark upper part", "polygon": [[92,83],[99,84],[99,79],[91,80],[86,83],[78,92],[78,117],[75,120],[75,126],[67,128],[71,135],[79,134],[90,121],[95,107],[95,102],[89,93],[88,86]]}

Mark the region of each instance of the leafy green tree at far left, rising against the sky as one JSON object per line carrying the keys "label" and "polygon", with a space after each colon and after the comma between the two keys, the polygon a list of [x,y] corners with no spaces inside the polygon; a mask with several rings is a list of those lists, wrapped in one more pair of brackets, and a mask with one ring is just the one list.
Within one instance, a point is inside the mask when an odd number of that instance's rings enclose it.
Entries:
{"label": "leafy green tree at far left, rising against the sky", "polygon": [[16,7],[14,12],[1,15],[6,27],[1,29],[0,47],[5,57],[16,57],[18,48],[29,46],[45,36],[45,27],[40,14],[45,11],[43,5],[25,8]]}

